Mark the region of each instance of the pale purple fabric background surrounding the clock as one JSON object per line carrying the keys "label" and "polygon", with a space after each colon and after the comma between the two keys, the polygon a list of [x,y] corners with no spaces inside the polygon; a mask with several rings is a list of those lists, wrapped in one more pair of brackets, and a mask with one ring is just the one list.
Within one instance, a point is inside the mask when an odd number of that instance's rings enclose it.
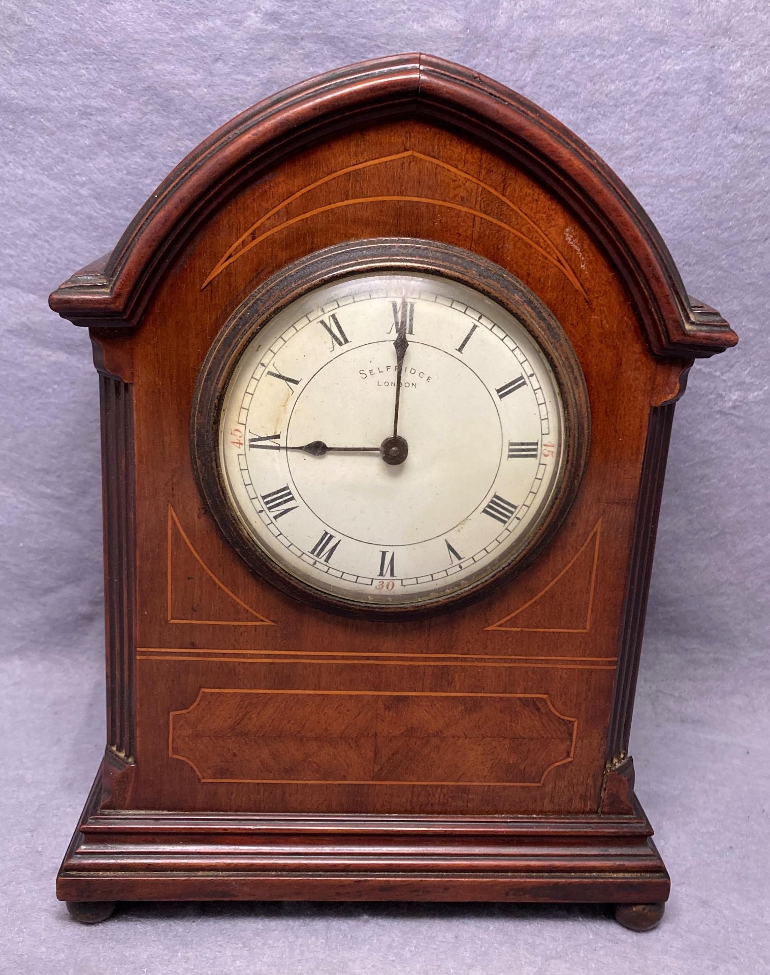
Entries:
{"label": "pale purple fabric background surrounding the clock", "polygon": [[[637,697],[667,917],[644,936],[516,906],[136,906],[77,925],[54,878],[104,741],[98,403],[88,336],[48,293],[238,111],[414,50],[583,137],[741,334],[676,411]],[[769,60],[761,0],[1,0],[0,971],[768,970]]]}

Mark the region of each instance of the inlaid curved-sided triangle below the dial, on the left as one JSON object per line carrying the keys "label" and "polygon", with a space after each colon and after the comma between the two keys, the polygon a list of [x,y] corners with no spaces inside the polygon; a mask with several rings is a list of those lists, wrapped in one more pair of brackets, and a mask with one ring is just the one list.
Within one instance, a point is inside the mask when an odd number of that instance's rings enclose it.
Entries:
{"label": "inlaid curved-sided triangle below the dial, on the left", "polygon": [[239,599],[214,575],[187,537],[171,504],[168,546],[170,623],[201,623],[208,626],[275,625]]}

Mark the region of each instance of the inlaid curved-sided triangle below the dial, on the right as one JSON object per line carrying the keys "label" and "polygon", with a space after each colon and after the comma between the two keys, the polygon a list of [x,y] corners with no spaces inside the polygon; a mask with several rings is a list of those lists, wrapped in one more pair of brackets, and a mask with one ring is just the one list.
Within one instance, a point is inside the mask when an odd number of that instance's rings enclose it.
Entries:
{"label": "inlaid curved-sided triangle below the dial, on the right", "polygon": [[[588,633],[597,583],[601,519],[575,555],[537,596],[485,630]],[[565,594],[569,592],[570,598]]]}

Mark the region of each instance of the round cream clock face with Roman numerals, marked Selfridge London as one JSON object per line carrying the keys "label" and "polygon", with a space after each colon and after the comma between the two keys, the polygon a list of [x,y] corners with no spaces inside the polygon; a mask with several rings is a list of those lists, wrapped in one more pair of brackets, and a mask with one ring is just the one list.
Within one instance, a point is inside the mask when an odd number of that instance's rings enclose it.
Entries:
{"label": "round cream clock face with Roman numerals, marked Selfridge London", "polygon": [[378,267],[236,317],[213,431],[242,554],[374,612],[516,564],[569,446],[564,379],[525,316],[438,270]]}

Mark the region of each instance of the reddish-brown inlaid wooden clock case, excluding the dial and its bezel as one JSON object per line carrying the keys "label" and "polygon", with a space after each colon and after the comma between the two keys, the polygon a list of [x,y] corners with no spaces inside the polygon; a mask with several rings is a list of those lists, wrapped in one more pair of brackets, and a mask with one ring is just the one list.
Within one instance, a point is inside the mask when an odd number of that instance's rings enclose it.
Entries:
{"label": "reddish-brown inlaid wooden clock case, excluding the dial and its bezel", "polygon": [[[513,273],[579,358],[592,439],[555,539],[479,602],[345,618],[250,572],[193,475],[217,332],[289,262],[365,238]],[[733,345],[597,156],[441,59],[331,72],[191,153],[51,296],[101,391],[107,748],[58,876],[120,900],[582,901],[653,926],[669,877],[629,728],[674,402]]]}

